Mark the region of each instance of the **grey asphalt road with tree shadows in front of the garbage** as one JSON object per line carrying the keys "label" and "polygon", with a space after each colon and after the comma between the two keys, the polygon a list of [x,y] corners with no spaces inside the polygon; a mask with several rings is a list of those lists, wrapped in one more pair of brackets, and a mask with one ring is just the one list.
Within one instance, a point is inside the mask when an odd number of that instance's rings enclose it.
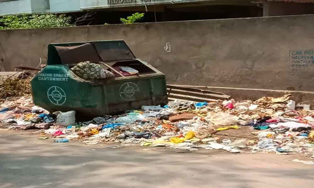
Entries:
{"label": "grey asphalt road with tree shadows in front of the garbage", "polygon": [[30,132],[1,130],[0,188],[308,188],[314,183],[314,165],[292,162],[295,155],[107,146],[54,143]]}

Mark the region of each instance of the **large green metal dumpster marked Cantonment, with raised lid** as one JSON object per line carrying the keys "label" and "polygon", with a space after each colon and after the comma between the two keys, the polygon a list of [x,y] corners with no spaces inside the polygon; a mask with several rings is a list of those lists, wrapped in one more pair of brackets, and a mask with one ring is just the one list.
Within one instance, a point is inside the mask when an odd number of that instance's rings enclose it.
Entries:
{"label": "large green metal dumpster marked Cantonment, with raised lid", "polygon": [[[71,70],[82,61],[96,62],[115,76],[83,79]],[[138,74],[124,75],[118,66]],[[49,44],[47,66],[32,79],[31,88],[35,105],[49,112],[75,110],[85,117],[168,103],[165,75],[136,59],[123,40]]]}

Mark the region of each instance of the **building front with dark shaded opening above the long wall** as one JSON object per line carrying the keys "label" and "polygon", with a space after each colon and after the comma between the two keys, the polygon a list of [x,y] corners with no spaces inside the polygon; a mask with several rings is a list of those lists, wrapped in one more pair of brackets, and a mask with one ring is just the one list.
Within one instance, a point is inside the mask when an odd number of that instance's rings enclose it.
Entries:
{"label": "building front with dark shaded opening above the long wall", "polygon": [[0,16],[86,11],[158,13],[160,21],[241,18],[313,14],[314,0],[0,0]]}

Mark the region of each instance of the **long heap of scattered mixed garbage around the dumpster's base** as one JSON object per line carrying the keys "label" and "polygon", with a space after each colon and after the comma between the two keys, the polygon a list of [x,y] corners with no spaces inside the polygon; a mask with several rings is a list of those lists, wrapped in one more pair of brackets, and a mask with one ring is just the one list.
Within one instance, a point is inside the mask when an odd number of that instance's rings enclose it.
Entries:
{"label": "long heap of scattered mixed garbage around the dumpster's base", "polygon": [[[314,111],[296,105],[291,95],[256,101],[172,101],[164,107],[143,106],[122,115],[76,122],[75,111],[54,112],[31,97],[9,97],[1,103],[0,120],[8,130],[40,129],[38,139],[164,146],[194,151],[222,149],[231,153],[314,154]],[[295,110],[295,108],[297,108]],[[252,138],[228,138],[226,130],[250,130]]]}

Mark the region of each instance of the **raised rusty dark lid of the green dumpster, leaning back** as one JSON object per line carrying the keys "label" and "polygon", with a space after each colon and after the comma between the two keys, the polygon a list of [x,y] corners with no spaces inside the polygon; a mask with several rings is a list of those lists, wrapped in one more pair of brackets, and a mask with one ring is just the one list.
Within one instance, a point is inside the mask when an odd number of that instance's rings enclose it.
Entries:
{"label": "raised rusty dark lid of the green dumpster, leaning back", "polygon": [[135,58],[124,40],[103,40],[49,44],[47,64],[77,64],[82,61],[118,61]]}

